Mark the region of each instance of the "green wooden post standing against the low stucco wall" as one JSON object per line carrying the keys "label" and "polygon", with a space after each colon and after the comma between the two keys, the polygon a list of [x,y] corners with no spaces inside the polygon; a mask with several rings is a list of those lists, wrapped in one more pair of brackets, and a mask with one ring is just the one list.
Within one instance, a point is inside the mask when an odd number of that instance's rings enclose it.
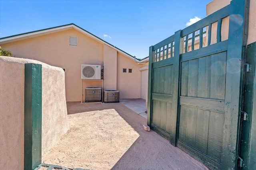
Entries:
{"label": "green wooden post standing against the low stucco wall", "polygon": [[34,170],[42,161],[42,65],[25,64],[24,170]]}

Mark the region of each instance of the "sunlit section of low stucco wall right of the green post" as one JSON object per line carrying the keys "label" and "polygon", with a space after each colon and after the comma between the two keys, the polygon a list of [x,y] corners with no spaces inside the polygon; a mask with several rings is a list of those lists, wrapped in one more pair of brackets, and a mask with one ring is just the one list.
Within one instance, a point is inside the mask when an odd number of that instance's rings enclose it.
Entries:
{"label": "sunlit section of low stucco wall right of the green post", "polygon": [[65,74],[62,68],[42,64],[42,155],[68,131]]}

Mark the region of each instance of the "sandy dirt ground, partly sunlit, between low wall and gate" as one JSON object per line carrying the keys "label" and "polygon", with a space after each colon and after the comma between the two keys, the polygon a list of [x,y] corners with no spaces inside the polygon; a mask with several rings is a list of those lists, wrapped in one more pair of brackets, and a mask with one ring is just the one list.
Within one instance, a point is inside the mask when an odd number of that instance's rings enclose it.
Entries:
{"label": "sandy dirt ground, partly sunlit, between low wall and gate", "polygon": [[42,163],[94,170],[208,170],[154,131],[121,103],[68,102],[70,129]]}

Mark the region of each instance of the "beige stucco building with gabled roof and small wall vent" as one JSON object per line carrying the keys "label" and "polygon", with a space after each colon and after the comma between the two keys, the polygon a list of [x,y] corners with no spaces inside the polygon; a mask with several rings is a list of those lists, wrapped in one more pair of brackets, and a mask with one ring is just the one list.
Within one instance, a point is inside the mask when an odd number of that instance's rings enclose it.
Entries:
{"label": "beige stucco building with gabled roof and small wall vent", "polygon": [[[148,58],[134,59],[73,23],[4,37],[0,39],[0,45],[16,57],[64,68],[67,102],[84,102],[85,88],[88,87],[119,90],[120,99],[146,99]],[[103,80],[82,80],[81,64],[100,65]],[[126,72],[123,72],[124,68]]]}

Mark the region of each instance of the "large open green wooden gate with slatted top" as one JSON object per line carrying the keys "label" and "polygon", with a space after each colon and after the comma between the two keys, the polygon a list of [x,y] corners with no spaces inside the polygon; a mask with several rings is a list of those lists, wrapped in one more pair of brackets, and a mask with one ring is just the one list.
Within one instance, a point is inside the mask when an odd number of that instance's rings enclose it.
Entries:
{"label": "large open green wooden gate with slatted top", "polygon": [[238,168],[247,29],[248,0],[232,0],[150,47],[148,125],[212,169]]}

